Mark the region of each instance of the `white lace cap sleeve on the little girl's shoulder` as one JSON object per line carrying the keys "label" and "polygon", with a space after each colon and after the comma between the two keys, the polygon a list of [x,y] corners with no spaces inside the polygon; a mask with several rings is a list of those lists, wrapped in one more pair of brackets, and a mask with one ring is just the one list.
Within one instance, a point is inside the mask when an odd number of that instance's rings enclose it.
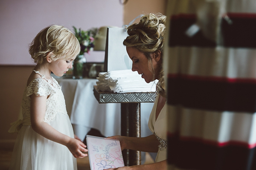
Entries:
{"label": "white lace cap sleeve on the little girl's shoulder", "polygon": [[32,80],[26,89],[26,96],[35,94],[36,96],[48,96],[51,92],[55,92],[51,85],[44,79],[38,78]]}

